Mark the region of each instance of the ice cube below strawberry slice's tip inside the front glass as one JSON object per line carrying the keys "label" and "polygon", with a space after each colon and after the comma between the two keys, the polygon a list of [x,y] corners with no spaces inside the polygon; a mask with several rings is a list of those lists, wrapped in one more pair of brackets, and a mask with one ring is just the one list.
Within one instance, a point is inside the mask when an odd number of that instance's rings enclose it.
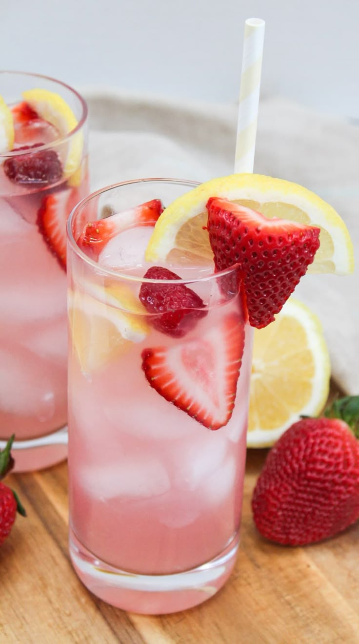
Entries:
{"label": "ice cube below strawberry slice's tip inside the front glass", "polygon": [[186,442],[176,441],[172,454],[172,484],[178,489],[194,490],[219,468],[228,441],[221,430],[211,431],[198,424]]}

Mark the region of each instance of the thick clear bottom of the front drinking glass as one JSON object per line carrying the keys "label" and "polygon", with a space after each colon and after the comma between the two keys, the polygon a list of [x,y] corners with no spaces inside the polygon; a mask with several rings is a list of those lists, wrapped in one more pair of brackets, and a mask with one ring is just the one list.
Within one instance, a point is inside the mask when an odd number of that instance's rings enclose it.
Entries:
{"label": "thick clear bottom of the front drinking glass", "polygon": [[216,594],[232,573],[238,545],[239,535],[216,558],[183,573],[135,574],[101,561],[69,531],[72,564],[87,589],[117,608],[145,615],[185,611]]}

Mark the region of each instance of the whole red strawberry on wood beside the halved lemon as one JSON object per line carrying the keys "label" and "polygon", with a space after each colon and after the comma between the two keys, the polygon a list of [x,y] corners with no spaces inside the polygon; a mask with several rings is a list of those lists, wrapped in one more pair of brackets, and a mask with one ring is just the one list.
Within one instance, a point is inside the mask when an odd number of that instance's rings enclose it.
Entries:
{"label": "whole red strawberry on wood beside the halved lemon", "polygon": [[312,544],[359,518],[359,396],[293,424],[268,454],[252,498],[262,536]]}

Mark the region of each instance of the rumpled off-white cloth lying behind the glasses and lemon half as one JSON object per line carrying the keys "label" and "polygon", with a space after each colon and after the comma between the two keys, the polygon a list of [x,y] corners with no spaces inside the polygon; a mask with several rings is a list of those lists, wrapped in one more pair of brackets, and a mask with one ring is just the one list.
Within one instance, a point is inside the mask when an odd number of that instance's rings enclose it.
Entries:
{"label": "rumpled off-white cloth lying behind the glasses and lemon half", "polygon": [[[114,90],[82,90],[90,113],[91,187],[167,176],[206,181],[233,171],[237,108],[178,104]],[[262,101],[255,172],[295,181],[326,199],[359,247],[359,128],[278,97]],[[359,272],[308,275],[295,296],[324,327],[332,373],[359,393]]]}

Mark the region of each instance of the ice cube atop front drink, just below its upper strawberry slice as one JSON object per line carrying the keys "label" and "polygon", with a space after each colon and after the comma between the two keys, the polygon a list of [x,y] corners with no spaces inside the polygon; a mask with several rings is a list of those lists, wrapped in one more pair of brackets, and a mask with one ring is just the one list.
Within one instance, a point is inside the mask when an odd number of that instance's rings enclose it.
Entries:
{"label": "ice cube atop front drink, just below its upper strawberry slice", "polygon": [[152,226],[136,226],[120,232],[106,244],[98,263],[113,268],[144,266],[145,250],[152,232]]}

